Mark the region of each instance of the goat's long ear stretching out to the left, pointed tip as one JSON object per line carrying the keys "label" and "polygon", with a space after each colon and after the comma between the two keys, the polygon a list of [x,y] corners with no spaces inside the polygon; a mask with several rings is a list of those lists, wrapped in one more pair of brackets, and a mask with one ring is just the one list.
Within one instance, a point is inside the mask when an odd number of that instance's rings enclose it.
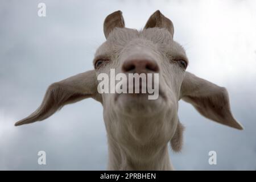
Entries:
{"label": "goat's long ear stretching out to the left, pointed tip", "polygon": [[92,97],[100,101],[97,93],[95,71],[88,71],[51,84],[42,104],[27,118],[15,123],[15,126],[42,121],[54,114],[66,104],[71,104]]}

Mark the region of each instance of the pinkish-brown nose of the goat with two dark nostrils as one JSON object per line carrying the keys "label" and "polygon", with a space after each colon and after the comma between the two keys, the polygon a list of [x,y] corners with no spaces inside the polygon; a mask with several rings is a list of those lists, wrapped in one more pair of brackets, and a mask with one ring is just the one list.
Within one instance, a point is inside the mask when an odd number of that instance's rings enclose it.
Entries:
{"label": "pinkish-brown nose of the goat with two dark nostrils", "polygon": [[126,60],[125,63],[123,63],[122,66],[123,72],[131,72],[134,71],[134,73],[146,73],[146,72],[158,72],[159,67],[158,64],[155,63],[155,61],[142,59],[142,60]]}

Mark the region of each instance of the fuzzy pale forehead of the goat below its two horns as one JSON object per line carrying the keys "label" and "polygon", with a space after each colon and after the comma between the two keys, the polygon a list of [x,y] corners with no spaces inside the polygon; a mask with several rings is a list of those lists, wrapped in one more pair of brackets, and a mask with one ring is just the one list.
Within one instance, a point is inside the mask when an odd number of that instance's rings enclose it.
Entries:
{"label": "fuzzy pale forehead of the goat below its two horns", "polygon": [[164,28],[148,28],[142,31],[130,28],[114,28],[106,42],[97,49],[95,56],[118,54],[123,48],[135,44],[186,57],[183,47],[176,43],[170,32]]}

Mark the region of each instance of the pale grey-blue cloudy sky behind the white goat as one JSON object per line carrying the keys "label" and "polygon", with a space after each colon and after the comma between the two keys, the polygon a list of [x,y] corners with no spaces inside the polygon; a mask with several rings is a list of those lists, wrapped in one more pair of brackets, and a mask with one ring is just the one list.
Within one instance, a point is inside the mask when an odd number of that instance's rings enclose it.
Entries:
{"label": "pale grey-blue cloudy sky behind the white goat", "polygon": [[[38,3],[46,3],[46,17]],[[227,1],[0,1],[0,169],[106,169],[102,107],[92,99],[51,118],[14,127],[42,101],[49,84],[92,69],[104,42],[106,15],[122,10],[126,26],[142,28],[156,10],[174,22],[187,51],[188,71],[229,91],[238,131],[202,117],[180,101],[184,148],[170,150],[176,169],[256,169],[256,2]],[[47,165],[38,165],[38,151]],[[217,165],[208,152],[217,152]]]}

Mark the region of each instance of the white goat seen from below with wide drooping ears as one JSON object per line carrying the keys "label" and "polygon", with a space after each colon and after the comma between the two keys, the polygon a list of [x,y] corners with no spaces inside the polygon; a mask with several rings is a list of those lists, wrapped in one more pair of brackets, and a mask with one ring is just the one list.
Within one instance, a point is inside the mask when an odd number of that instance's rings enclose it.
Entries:
{"label": "white goat seen from below with wide drooping ears", "polygon": [[[104,42],[96,51],[94,69],[49,86],[42,104],[15,126],[50,117],[66,104],[94,98],[104,107],[108,136],[109,170],[171,170],[168,143],[178,152],[184,127],[177,116],[180,99],[192,104],[201,115],[242,130],[230,110],[225,88],[186,70],[188,58],[173,40],[170,19],[156,11],[143,30],[125,28],[122,12],[115,11],[104,21]],[[148,94],[98,92],[97,76],[117,73],[158,73],[159,97]]]}

